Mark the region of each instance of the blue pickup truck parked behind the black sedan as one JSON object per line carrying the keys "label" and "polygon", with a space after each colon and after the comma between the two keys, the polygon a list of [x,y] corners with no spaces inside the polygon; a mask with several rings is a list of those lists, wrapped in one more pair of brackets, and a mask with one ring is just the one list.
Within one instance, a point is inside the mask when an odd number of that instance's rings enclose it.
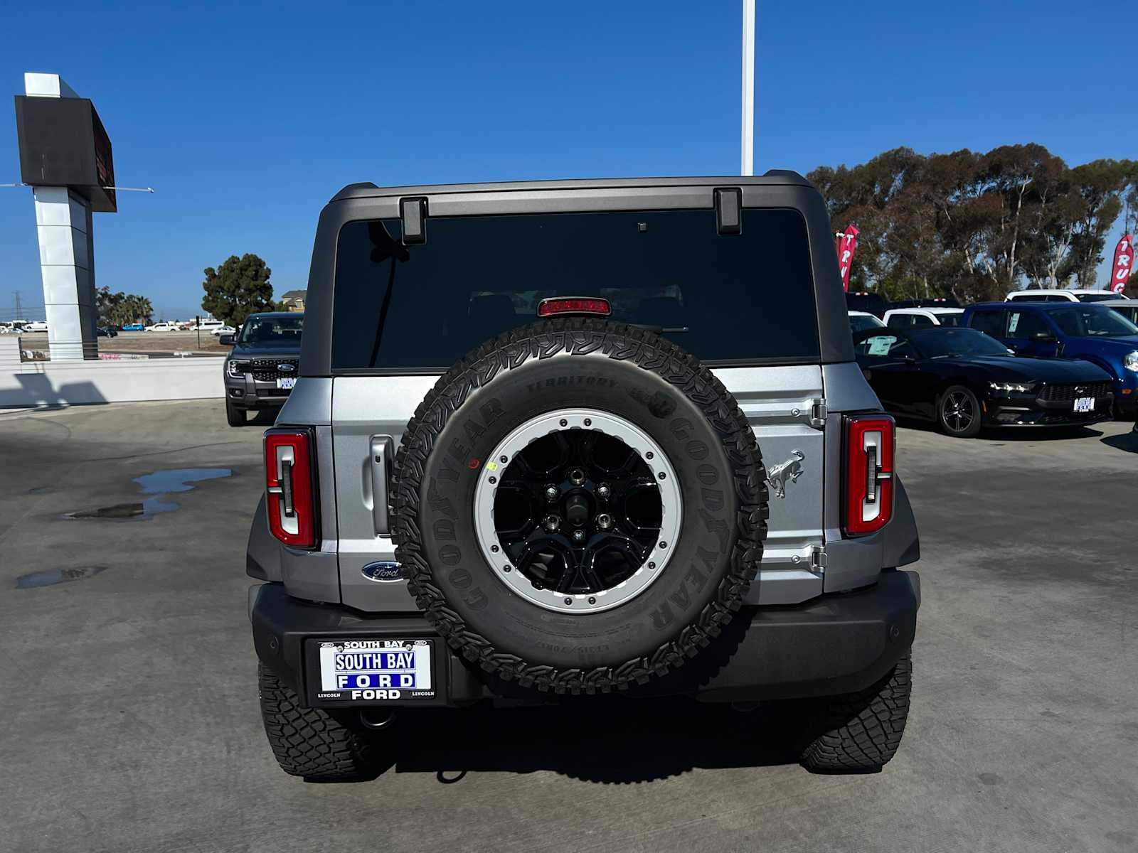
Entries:
{"label": "blue pickup truck parked behind the black sedan", "polygon": [[979,329],[1016,355],[1080,358],[1114,380],[1114,409],[1132,416],[1138,406],[1138,325],[1092,303],[980,303],[962,325]]}

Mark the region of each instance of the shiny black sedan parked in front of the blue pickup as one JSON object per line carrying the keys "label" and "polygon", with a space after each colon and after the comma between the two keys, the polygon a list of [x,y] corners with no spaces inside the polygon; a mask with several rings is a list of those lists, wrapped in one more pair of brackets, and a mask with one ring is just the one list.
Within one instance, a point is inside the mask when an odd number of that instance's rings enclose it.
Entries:
{"label": "shiny black sedan parked in front of the blue pickup", "polygon": [[1075,426],[1105,421],[1111,378],[1090,362],[1021,358],[975,329],[867,329],[857,362],[888,412],[971,438],[982,426]]}

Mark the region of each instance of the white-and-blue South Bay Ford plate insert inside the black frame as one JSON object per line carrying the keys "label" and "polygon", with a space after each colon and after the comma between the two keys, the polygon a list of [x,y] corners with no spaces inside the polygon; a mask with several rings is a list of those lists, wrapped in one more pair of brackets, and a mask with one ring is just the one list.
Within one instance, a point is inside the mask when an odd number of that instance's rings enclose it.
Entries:
{"label": "white-and-blue South Bay Ford plate insert inside the black frame", "polygon": [[431,641],[321,640],[321,699],[389,702],[435,696]]}

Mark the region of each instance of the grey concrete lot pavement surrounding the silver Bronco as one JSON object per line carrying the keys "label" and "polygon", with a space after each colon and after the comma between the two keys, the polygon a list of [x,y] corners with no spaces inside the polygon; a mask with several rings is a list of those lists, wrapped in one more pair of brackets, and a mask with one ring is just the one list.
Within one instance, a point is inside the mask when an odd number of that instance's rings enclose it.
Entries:
{"label": "grey concrete lot pavement surrounding the silver Bronco", "polygon": [[[331,786],[282,775],[257,712],[261,429],[221,400],[0,415],[0,850],[1136,850],[1129,430],[900,432],[924,604],[882,773],[781,763],[761,715],[621,702],[424,718],[394,770]],[[133,482],[195,469],[232,475]],[[179,506],[64,517],[147,500]]]}

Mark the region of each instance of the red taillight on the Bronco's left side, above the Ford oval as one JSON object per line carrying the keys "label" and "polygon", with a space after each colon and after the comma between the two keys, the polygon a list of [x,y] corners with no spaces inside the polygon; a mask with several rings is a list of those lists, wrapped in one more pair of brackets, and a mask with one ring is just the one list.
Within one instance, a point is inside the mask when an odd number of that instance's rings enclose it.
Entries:
{"label": "red taillight on the Bronco's left side, above the Ford oval", "polygon": [[265,432],[269,529],[286,545],[316,547],[316,471],[308,430]]}

